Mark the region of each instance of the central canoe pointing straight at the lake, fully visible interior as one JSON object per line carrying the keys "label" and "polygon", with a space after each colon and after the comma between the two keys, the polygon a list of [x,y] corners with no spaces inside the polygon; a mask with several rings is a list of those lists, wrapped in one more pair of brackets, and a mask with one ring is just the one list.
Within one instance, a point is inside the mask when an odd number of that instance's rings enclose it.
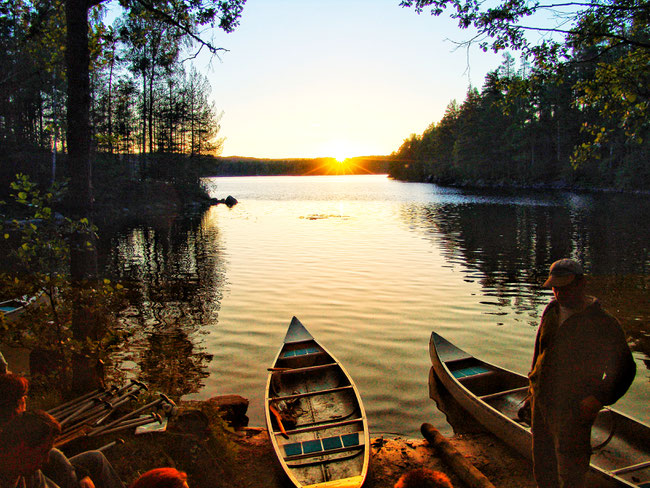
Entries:
{"label": "central canoe pointing straight at the lake, fully visible interior", "polygon": [[293,317],[269,369],[266,425],[297,487],[358,488],[370,439],[359,392],[343,366]]}

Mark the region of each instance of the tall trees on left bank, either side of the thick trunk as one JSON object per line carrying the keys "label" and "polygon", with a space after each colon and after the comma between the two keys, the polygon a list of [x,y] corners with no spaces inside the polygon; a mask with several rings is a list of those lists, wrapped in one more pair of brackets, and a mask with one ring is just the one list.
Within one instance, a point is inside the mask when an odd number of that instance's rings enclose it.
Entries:
{"label": "tall trees on left bank, either side of the thick trunk", "polygon": [[[89,11],[93,152],[122,159],[137,154],[130,159],[138,165],[152,153],[218,153],[221,115],[210,101],[210,84],[185,62],[192,39],[144,7],[107,19],[117,11],[101,3]],[[65,49],[65,2],[0,2],[5,156],[25,160],[47,152],[56,159],[67,152]],[[15,165],[3,166],[3,181],[10,181]]]}

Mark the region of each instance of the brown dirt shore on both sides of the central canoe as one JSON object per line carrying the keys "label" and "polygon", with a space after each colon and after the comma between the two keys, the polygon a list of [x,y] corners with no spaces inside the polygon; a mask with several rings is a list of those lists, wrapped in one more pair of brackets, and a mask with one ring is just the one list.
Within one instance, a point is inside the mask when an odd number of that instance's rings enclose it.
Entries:
{"label": "brown dirt shore on both sides of the central canoe", "polygon": [[[191,488],[293,487],[265,429],[234,432],[213,421],[209,426],[202,420],[190,425],[193,422],[176,422],[159,434],[123,435],[124,444],[111,447],[105,454],[127,485],[149,469],[173,466],[187,472]],[[490,434],[462,434],[448,439],[496,488],[535,488],[530,463]],[[418,467],[444,472],[455,488],[470,488],[424,438],[375,437],[371,445],[370,471],[364,488],[393,488],[403,473]],[[82,442],[64,451],[71,456],[74,451],[96,447]]]}

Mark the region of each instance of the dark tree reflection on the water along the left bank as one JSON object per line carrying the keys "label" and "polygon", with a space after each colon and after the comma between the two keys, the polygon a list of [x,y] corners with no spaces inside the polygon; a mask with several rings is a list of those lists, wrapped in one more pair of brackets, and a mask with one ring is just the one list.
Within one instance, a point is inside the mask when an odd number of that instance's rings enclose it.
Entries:
{"label": "dark tree reflection on the water along the left bank", "polygon": [[116,361],[172,395],[198,391],[208,376],[211,355],[199,341],[203,326],[217,322],[224,274],[209,216],[120,231],[107,256],[108,273],[130,290],[121,317],[132,335]]}

